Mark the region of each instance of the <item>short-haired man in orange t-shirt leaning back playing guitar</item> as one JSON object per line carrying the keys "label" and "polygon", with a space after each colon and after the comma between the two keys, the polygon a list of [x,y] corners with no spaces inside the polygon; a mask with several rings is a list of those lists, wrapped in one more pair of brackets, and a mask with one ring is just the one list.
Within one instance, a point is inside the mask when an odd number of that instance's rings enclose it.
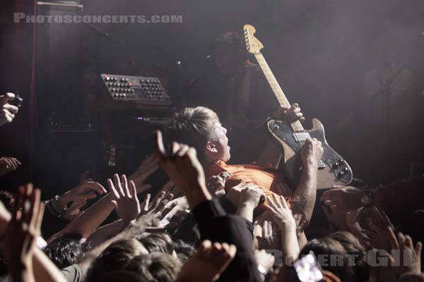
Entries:
{"label": "short-haired man in orange t-shirt leaning back playing guitar", "polygon": [[[288,115],[292,121],[305,120],[298,104],[293,104],[290,109],[279,110],[275,117],[282,118],[283,115]],[[302,176],[298,187],[292,191],[285,184],[281,171],[277,170],[282,154],[271,140],[253,164],[228,165],[226,162],[230,160],[230,147],[226,133],[227,130],[221,125],[217,114],[203,106],[182,109],[167,126],[171,152],[179,146],[182,146],[181,152],[194,147],[206,179],[220,173],[228,176],[222,179],[225,181],[223,187],[226,191],[240,183],[252,183],[259,186],[265,196],[276,193],[289,197],[300,234],[309,223],[314,209],[317,163],[323,153],[321,142],[312,138],[302,146]]]}

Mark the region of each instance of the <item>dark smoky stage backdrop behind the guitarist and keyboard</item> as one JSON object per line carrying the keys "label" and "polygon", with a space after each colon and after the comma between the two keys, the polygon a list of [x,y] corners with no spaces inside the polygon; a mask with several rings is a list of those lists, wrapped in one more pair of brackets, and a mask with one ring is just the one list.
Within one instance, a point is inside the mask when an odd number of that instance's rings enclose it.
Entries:
{"label": "dark smoky stage backdrop behind the guitarist and keyboard", "polygon": [[[57,113],[55,116],[71,128],[87,128],[91,124],[93,129],[98,129],[96,117],[86,106],[87,101],[99,95],[93,86],[97,68],[100,73],[165,78],[169,81],[170,95],[178,97],[189,80],[204,68],[213,38],[221,32],[241,31],[245,23],[256,27],[257,36],[265,45],[263,54],[289,101],[299,102],[307,118],[317,117],[326,125],[329,143],[350,161],[355,176],[372,180],[374,172],[361,170],[361,164],[373,156],[360,154],[352,145],[355,138],[361,138],[358,136],[361,125],[338,125],[346,113],[356,110],[354,105],[363,75],[377,63],[372,40],[387,30],[399,30],[396,43],[401,49],[400,56],[413,62],[409,67],[417,80],[422,80],[423,3],[419,0],[91,0],[81,1],[83,11],[49,11],[38,7],[39,13],[55,15],[182,15],[182,23],[94,24],[129,46],[136,70],[122,46],[99,37],[83,23],[37,24],[33,37],[33,24],[13,24],[11,20],[15,11],[32,14],[33,1],[0,1],[0,91],[19,91],[25,100],[16,121],[0,128],[1,156],[17,157],[23,162],[19,171],[2,179],[3,186],[13,189],[33,179],[47,195],[53,195],[76,184],[79,174],[86,169],[101,180],[110,176],[100,160],[98,135],[52,135],[48,127],[52,113]],[[293,73],[298,75],[295,80]],[[31,88],[33,74],[35,85]],[[31,93],[33,119],[30,118]],[[418,100],[423,97],[420,85],[416,97]],[[352,126],[357,135],[349,135]],[[140,157],[151,148],[149,130],[134,133],[143,148],[138,152]],[[422,133],[422,128],[413,130],[415,138],[420,138]],[[417,156],[421,151],[422,148],[417,148]],[[417,157],[416,161],[422,159]],[[379,182],[389,179],[389,176],[380,178]]]}

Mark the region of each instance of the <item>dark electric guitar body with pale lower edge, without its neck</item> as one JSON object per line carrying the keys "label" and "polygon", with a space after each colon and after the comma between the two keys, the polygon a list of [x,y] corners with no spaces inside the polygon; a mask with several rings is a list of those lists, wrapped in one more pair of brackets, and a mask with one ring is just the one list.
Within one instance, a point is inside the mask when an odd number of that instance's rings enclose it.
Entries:
{"label": "dark electric guitar body with pale lower edge, without its neck", "polygon": [[[288,121],[270,120],[267,123],[269,134],[276,140],[283,152],[283,171],[288,185],[295,188],[300,181],[302,173],[302,160],[300,149],[304,141],[296,140]],[[324,126],[316,118],[312,119],[312,128],[304,130],[312,138],[322,142],[324,153],[319,164],[317,175],[317,189],[327,189],[332,185],[348,185],[351,183],[353,173],[348,163],[332,149],[326,142]],[[302,139],[297,138],[297,139]]]}

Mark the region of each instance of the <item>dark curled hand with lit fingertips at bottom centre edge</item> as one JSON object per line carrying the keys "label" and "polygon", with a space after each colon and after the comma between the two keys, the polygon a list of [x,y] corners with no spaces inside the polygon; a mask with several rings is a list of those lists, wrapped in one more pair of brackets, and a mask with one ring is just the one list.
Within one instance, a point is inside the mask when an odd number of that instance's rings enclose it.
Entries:
{"label": "dark curled hand with lit fingertips at bottom centre edge", "polygon": [[237,248],[204,240],[199,250],[182,266],[177,282],[216,281],[234,259]]}

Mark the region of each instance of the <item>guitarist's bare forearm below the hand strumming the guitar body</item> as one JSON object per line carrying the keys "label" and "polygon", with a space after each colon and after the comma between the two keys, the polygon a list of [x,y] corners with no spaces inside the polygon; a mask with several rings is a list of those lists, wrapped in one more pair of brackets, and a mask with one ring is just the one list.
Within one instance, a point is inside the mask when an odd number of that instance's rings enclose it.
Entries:
{"label": "guitarist's bare forearm below the hand strumming the guitar body", "polygon": [[317,197],[317,165],[305,164],[302,169],[300,183],[290,202],[293,214],[302,214],[310,221]]}

